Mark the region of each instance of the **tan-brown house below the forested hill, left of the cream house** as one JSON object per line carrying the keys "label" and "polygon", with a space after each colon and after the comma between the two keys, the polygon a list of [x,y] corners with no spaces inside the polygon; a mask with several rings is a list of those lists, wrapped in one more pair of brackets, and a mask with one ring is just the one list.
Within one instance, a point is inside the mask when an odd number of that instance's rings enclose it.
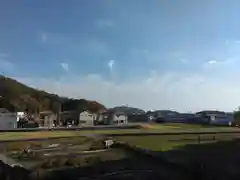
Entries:
{"label": "tan-brown house below the forested hill, left of the cream house", "polygon": [[39,124],[43,127],[54,127],[56,126],[57,115],[52,111],[42,111],[39,113]]}

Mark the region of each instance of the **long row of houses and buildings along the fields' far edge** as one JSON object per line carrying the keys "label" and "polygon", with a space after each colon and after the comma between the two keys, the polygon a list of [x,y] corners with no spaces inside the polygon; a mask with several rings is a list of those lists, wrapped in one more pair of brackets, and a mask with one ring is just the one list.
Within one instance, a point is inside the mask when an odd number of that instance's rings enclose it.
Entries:
{"label": "long row of houses and buildings along the fields' far edge", "polygon": [[201,111],[197,113],[179,113],[170,110],[158,111],[119,111],[115,109],[92,112],[63,111],[58,114],[52,111],[43,111],[38,114],[25,112],[10,113],[0,108],[0,129],[29,128],[29,127],[71,127],[71,126],[96,126],[110,124],[128,124],[132,122],[172,122],[195,123],[210,125],[231,126],[233,113],[220,111]]}

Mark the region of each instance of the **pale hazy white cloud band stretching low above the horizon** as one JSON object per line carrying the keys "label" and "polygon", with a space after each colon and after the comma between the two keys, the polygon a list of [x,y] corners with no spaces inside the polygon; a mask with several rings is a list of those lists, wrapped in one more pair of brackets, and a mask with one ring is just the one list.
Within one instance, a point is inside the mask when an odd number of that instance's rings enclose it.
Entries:
{"label": "pale hazy white cloud band stretching low above the horizon", "polygon": [[[213,78],[156,72],[142,79],[115,82],[100,75],[69,76],[61,80],[21,79],[22,82],[62,96],[97,100],[107,107],[128,104],[148,109],[231,111],[239,106],[239,77]],[[196,88],[197,87],[197,88]],[[225,98],[227,97],[227,101]]]}

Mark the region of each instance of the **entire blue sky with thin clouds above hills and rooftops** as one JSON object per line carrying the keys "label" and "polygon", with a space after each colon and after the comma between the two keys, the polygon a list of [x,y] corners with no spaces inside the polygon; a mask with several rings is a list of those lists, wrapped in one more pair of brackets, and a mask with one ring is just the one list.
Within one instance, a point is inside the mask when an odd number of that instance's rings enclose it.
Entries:
{"label": "entire blue sky with thin clouds above hills and rooftops", "polygon": [[0,0],[0,73],[106,107],[233,111],[239,0]]}

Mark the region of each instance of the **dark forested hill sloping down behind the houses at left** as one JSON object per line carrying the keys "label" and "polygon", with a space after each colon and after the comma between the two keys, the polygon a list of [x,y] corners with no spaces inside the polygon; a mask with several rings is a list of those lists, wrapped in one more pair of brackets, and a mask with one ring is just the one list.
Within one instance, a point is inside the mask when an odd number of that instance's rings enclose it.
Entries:
{"label": "dark forested hill sloping down behind the houses at left", "polygon": [[27,111],[35,113],[51,110],[53,112],[64,110],[98,111],[105,109],[104,105],[96,101],[85,99],[70,99],[40,91],[12,78],[0,75],[0,108],[9,111]]}

